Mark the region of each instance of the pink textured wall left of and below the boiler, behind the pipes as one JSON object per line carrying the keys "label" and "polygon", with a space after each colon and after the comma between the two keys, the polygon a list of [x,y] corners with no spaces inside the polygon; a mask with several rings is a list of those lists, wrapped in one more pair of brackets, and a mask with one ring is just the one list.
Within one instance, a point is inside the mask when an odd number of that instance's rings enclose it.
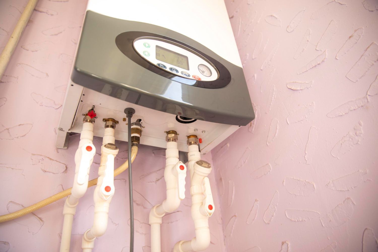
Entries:
{"label": "pink textured wall left of and below the boiler, behind the pipes", "polygon": [[[27,0],[0,1],[0,50],[5,46]],[[55,148],[55,137],[65,88],[84,18],[87,1],[39,0],[36,11],[9,62],[0,83],[0,214],[14,212],[72,186],[74,153],[79,135],[70,136],[67,150]],[[96,123],[102,124],[101,120]],[[95,138],[100,153],[101,138]],[[126,161],[127,145],[116,165]],[[135,250],[150,251],[150,208],[165,199],[165,152],[141,146],[133,164]],[[204,157],[211,162],[211,154]],[[90,179],[97,176],[100,155],[95,156]],[[215,204],[217,190],[213,184]],[[107,232],[93,251],[127,252],[129,196],[127,173],[116,178]],[[171,251],[179,240],[194,237],[187,178],[180,208],[163,218],[162,250]],[[74,220],[71,251],[81,251],[81,235],[93,221],[93,190],[81,199]],[[22,218],[0,224],[0,252],[57,251],[62,232],[64,200]],[[206,251],[225,251],[220,209],[210,218],[211,245]]]}

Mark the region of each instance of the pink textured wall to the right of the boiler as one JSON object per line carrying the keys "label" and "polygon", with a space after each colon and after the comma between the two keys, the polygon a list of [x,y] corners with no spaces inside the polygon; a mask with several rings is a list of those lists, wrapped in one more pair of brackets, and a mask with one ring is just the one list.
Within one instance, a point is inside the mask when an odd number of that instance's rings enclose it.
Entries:
{"label": "pink textured wall to the right of the boiler", "polygon": [[378,2],[226,6],[256,111],[212,151],[227,251],[378,251]]}

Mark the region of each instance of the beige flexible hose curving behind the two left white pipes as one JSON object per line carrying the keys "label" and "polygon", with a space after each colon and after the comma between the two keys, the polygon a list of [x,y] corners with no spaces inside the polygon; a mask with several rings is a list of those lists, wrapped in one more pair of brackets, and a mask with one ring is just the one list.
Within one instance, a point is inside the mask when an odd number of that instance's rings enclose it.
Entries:
{"label": "beige flexible hose curving behind the two left white pipes", "polygon": [[[131,147],[131,162],[134,162],[134,159],[137,153],[138,153],[138,146]],[[124,172],[124,170],[126,170],[127,168],[129,168],[128,161],[124,162],[121,166],[119,166],[116,170],[114,170],[114,176],[117,176],[120,173]],[[96,184],[97,184],[97,178],[88,181],[88,187],[95,186]],[[24,209],[18,210],[16,212],[1,215],[0,223],[17,219],[23,215],[34,212],[35,210],[38,210],[44,206],[47,206],[48,204],[51,204],[61,198],[67,197],[68,195],[71,194],[71,189],[72,187],[67,190],[64,190],[63,192],[57,193],[51,197],[43,199],[42,201],[39,201],[36,204],[25,207]]]}

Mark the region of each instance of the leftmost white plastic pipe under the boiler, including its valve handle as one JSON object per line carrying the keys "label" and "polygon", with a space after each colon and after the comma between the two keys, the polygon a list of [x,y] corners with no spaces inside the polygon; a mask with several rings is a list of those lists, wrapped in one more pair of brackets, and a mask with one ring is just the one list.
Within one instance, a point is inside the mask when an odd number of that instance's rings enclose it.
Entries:
{"label": "leftmost white plastic pipe under the boiler, including its valve handle", "polygon": [[71,195],[67,197],[63,208],[63,229],[60,241],[60,252],[69,252],[73,216],[79,199],[84,196],[88,188],[89,170],[95,156],[96,148],[93,145],[93,124],[84,122],[80,134],[79,147],[75,153],[75,177]]}

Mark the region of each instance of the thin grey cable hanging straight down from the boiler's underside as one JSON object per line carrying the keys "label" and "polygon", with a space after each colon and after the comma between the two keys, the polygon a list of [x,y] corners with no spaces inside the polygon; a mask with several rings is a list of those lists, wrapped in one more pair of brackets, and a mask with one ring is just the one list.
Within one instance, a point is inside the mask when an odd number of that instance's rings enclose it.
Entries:
{"label": "thin grey cable hanging straight down from the boiler's underside", "polygon": [[127,114],[127,143],[128,158],[129,158],[129,201],[130,201],[130,252],[134,251],[134,208],[133,208],[133,181],[132,181],[132,169],[131,169],[131,113]]}

